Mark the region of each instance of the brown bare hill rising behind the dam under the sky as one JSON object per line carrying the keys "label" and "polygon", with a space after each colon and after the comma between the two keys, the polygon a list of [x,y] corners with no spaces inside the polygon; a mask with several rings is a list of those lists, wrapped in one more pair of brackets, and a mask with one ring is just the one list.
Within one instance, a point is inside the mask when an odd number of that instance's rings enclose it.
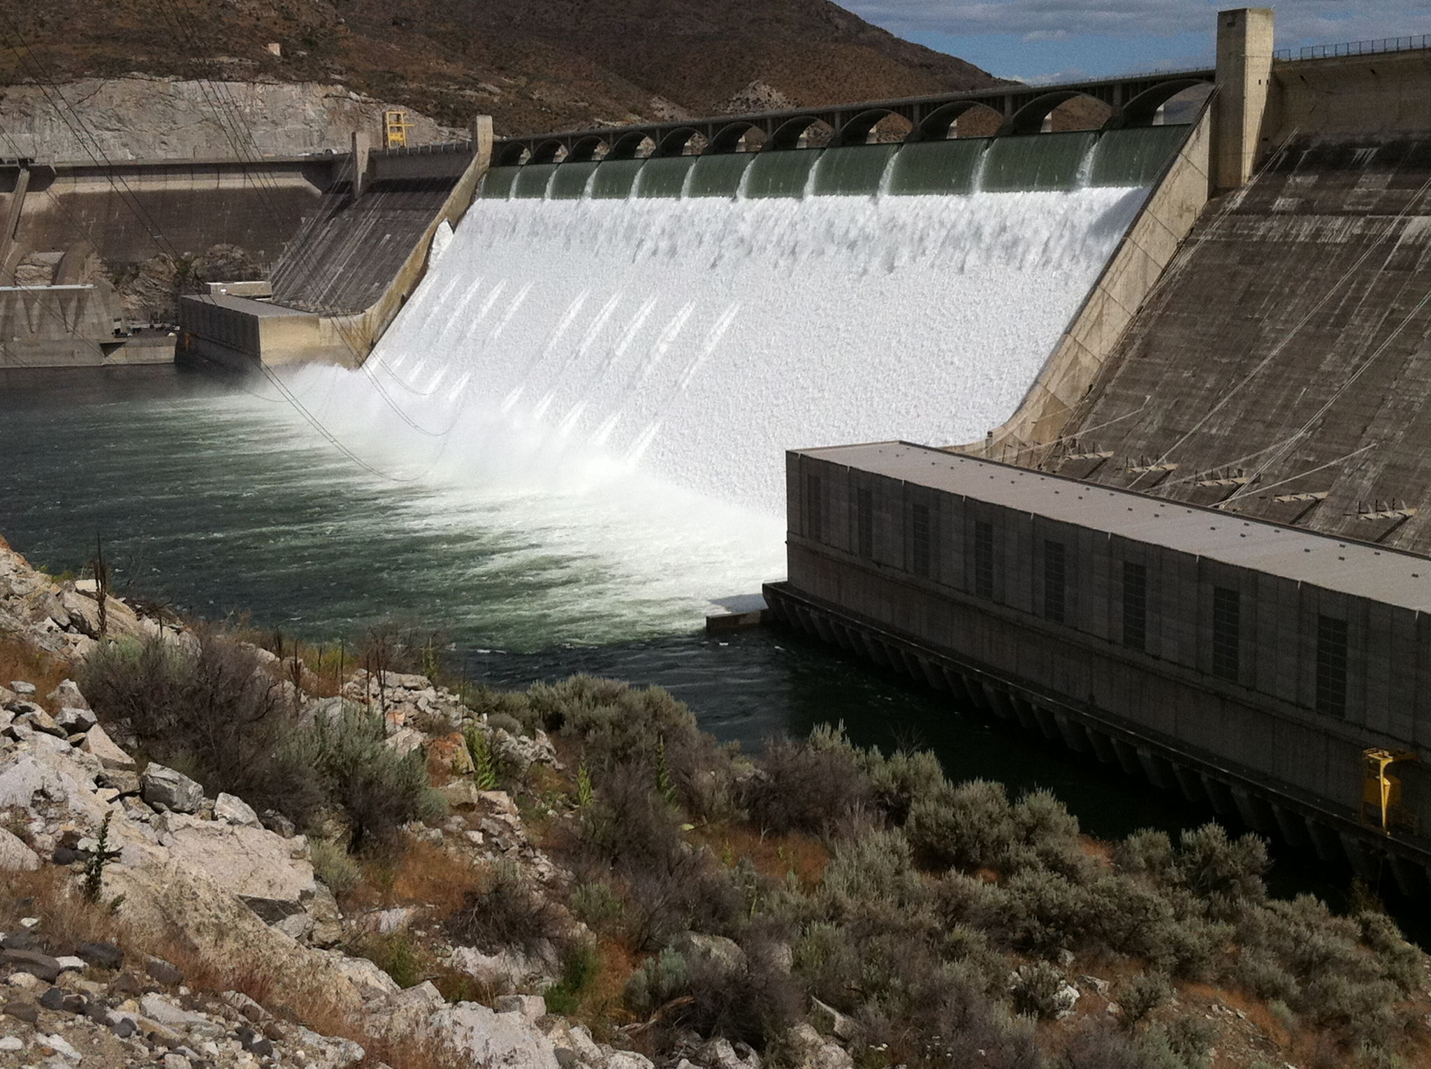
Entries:
{"label": "brown bare hill rising behind the dam under the sky", "polygon": [[47,0],[10,10],[0,16],[4,83],[129,72],[339,82],[451,125],[489,113],[501,133],[999,84],[827,0]]}

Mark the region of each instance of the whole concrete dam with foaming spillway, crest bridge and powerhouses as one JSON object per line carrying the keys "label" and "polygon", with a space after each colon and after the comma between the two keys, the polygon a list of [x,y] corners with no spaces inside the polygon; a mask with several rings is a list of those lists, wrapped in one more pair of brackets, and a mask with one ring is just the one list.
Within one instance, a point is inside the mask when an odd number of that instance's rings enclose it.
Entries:
{"label": "whole concrete dam with foaming spillway, crest bridge and powerhouses", "polygon": [[180,345],[378,477],[783,514],[777,623],[1421,890],[1425,74],[1239,10],[1211,70],[355,140]]}

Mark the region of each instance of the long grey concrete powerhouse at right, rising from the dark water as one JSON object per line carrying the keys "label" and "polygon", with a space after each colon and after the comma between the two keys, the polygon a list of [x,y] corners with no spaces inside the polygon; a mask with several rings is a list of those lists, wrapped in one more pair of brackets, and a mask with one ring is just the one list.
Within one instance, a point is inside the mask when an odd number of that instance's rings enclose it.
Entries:
{"label": "long grey concrete powerhouse at right, rising from the dark water", "polygon": [[[777,618],[1425,887],[1431,561],[903,442],[787,462]],[[1412,756],[1391,834],[1371,747]]]}

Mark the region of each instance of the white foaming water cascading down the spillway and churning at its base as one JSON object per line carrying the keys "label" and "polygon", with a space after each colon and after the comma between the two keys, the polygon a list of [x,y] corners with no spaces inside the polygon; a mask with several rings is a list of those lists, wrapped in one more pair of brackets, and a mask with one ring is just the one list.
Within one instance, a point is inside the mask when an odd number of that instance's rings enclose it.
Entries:
{"label": "white foaming water cascading down the spillway and churning at its base", "polygon": [[1143,195],[478,200],[366,366],[293,389],[431,485],[426,522],[499,512],[638,598],[748,592],[784,451],[982,438]]}

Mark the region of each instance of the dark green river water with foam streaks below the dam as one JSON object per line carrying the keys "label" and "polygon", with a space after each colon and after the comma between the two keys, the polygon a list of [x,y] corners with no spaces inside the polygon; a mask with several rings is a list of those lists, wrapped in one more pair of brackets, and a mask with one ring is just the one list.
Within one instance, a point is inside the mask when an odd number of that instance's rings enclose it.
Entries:
{"label": "dark green river water with foam streaks below the dam", "polygon": [[[120,588],[309,641],[381,620],[436,628],[449,664],[492,685],[577,671],[660,684],[746,746],[843,721],[863,744],[932,747],[954,778],[1050,789],[1103,837],[1211,819],[804,637],[707,637],[700,597],[653,597],[644,615],[640,574],[514,527],[539,511],[521,495],[455,515],[449,497],[375,484],[316,435],[276,432],[268,398],[170,368],[0,372],[0,532],[56,572],[79,571],[97,537]],[[1274,877],[1332,902],[1349,884],[1292,853]]]}

